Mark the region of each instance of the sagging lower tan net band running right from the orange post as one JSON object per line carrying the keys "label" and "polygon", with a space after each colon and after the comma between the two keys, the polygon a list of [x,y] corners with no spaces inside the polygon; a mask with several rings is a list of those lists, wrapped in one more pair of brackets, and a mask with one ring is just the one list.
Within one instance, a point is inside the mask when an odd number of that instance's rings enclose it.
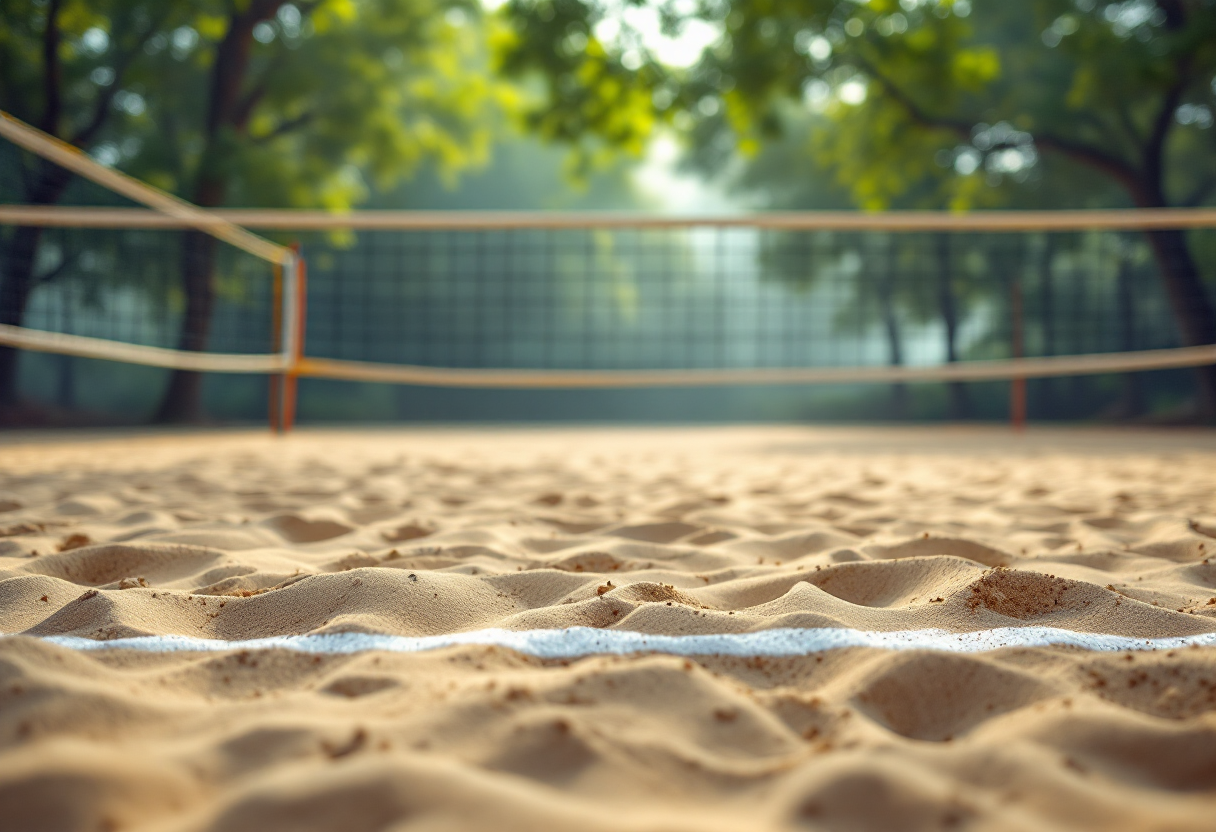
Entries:
{"label": "sagging lower tan net band running right from the orange post", "polygon": [[897,382],[1009,381],[1099,373],[1177,370],[1216,364],[1216,344],[1091,355],[959,361],[938,366],[756,367],[726,370],[494,370],[427,367],[342,359],[302,358],[293,372],[313,378],[530,389],[713,387],[717,384],[873,384]]}

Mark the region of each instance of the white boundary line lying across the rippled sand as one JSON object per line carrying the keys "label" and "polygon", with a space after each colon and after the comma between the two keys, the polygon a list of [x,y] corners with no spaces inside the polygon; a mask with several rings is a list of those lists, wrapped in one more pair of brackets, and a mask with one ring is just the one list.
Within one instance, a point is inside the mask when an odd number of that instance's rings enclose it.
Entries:
{"label": "white boundary line lying across the rippled sand", "polygon": [[[4,637],[12,637],[10,634]],[[1075,633],[1053,626],[1002,626],[974,633],[948,630],[850,630],[775,629],[759,633],[715,635],[648,635],[631,630],[597,630],[572,626],[559,630],[474,630],[438,636],[395,636],[368,633],[332,633],[221,641],[180,635],[136,636],[98,641],[79,636],[38,636],[72,650],[137,650],[152,653],[219,652],[229,650],[289,650],[300,653],[361,653],[387,651],[417,653],[445,647],[494,646],[547,659],[597,654],[668,653],[671,656],[809,656],[845,647],[878,650],[928,650],[947,653],[981,653],[1007,647],[1066,646],[1096,652],[1160,651],[1216,646],[1216,633],[1138,639],[1102,633]]]}

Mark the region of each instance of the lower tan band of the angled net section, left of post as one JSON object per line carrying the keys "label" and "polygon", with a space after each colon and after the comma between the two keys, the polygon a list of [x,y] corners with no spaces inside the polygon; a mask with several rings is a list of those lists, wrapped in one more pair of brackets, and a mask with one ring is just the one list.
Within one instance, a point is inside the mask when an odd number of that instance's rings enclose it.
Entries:
{"label": "lower tan band of the angled net section, left of post", "polygon": [[27,330],[23,326],[0,324],[0,344],[18,347],[38,353],[58,353],[80,358],[103,359],[141,364],[150,367],[168,367],[170,370],[193,370],[196,372],[283,372],[289,361],[285,355],[236,355],[231,353],[191,353],[182,349],[164,347],[145,347],[125,344],[105,338],[64,335],[62,332],[44,332]]}

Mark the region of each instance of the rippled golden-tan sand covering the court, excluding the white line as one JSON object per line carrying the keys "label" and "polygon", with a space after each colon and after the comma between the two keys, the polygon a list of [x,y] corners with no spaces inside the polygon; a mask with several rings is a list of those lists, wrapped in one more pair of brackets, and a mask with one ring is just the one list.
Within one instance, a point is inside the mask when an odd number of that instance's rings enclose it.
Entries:
{"label": "rippled golden-tan sand covering the court, excluding the white line", "polygon": [[1216,647],[81,652],[569,626],[1216,633],[1216,435],[0,439],[0,826],[1216,827]]}

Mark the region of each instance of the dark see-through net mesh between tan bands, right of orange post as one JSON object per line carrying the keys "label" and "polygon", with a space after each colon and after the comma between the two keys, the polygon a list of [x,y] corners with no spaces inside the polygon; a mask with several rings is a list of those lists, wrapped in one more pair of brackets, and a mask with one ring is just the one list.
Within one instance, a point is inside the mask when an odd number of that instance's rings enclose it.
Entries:
{"label": "dark see-through net mesh between tan bands, right of orange post", "polygon": [[[1188,237],[1210,266],[1216,232]],[[317,358],[849,367],[1181,343],[1150,247],[1128,231],[361,231],[309,235],[304,254]]]}

